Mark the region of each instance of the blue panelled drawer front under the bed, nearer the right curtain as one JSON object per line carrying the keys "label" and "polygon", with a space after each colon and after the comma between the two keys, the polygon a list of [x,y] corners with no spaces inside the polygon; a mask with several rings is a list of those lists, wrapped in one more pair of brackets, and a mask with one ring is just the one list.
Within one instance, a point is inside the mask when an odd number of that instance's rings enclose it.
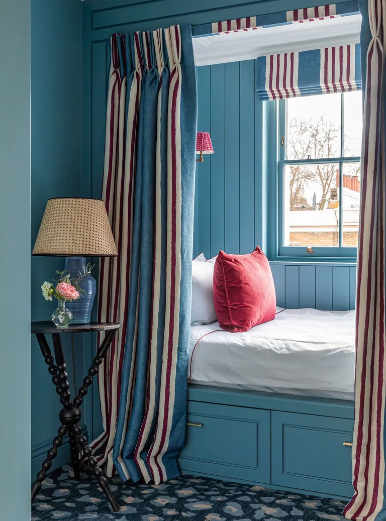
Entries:
{"label": "blue panelled drawer front under the bed, nearer the right curtain", "polygon": [[272,411],[272,485],[351,497],[354,421]]}

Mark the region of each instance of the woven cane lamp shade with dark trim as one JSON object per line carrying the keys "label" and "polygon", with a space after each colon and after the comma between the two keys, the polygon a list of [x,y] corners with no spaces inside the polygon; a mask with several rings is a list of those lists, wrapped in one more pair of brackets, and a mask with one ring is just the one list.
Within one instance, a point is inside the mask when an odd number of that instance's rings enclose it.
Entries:
{"label": "woven cane lamp shade with dark trim", "polygon": [[117,248],[100,199],[49,199],[32,255],[115,257]]}

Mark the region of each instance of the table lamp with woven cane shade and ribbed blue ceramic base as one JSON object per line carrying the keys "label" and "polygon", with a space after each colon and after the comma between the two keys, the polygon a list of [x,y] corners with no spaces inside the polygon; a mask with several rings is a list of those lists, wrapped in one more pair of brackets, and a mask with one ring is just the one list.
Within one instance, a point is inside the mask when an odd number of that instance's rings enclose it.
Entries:
{"label": "table lamp with woven cane shade and ribbed blue ceramic base", "polygon": [[[86,197],[49,199],[32,255],[66,257],[71,278],[86,272],[85,257],[118,255],[104,201]],[[96,293],[96,281],[86,273],[78,300],[68,302],[72,324],[88,324]]]}

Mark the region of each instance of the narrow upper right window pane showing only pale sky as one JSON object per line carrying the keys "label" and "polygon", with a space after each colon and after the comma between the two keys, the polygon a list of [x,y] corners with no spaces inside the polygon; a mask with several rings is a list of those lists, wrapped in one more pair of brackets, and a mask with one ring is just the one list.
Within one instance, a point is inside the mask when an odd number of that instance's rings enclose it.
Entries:
{"label": "narrow upper right window pane showing only pale sky", "polygon": [[362,91],[346,92],[343,102],[343,155],[360,156],[362,143]]}

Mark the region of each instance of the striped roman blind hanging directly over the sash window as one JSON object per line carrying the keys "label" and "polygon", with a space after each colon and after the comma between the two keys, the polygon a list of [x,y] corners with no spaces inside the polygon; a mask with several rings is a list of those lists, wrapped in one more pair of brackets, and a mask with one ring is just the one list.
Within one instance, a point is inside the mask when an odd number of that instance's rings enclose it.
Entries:
{"label": "striped roman blind hanging directly over the sash window", "polygon": [[361,88],[359,43],[257,58],[262,101]]}

